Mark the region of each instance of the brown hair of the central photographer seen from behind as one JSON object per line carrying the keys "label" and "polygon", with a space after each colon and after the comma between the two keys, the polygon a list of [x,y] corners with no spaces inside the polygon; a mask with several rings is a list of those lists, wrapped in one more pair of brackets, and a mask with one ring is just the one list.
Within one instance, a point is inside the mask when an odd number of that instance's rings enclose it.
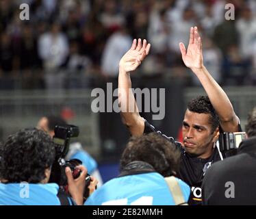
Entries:
{"label": "brown hair of the central photographer seen from behind", "polygon": [[168,177],[179,169],[180,151],[175,144],[157,133],[131,137],[120,161],[120,170],[131,162],[151,164],[156,172]]}

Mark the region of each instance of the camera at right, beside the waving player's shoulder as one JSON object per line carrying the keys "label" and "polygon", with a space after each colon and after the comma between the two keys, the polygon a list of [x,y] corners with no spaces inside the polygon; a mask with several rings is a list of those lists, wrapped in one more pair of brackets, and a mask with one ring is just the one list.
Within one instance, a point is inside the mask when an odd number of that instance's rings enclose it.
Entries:
{"label": "camera at right, beside the waving player's shoulder", "polygon": [[231,152],[232,155],[235,155],[237,149],[240,146],[242,140],[246,138],[245,132],[225,132],[220,133],[219,142],[220,142],[220,151],[222,153]]}

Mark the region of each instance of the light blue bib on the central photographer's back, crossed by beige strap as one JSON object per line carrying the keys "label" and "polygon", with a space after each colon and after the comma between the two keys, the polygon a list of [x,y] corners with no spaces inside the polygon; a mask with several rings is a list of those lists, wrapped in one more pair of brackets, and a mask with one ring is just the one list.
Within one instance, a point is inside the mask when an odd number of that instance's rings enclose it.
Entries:
{"label": "light blue bib on the central photographer's back, crossed by beige strap", "polygon": [[[178,179],[185,201],[190,187]],[[175,205],[172,194],[162,175],[149,172],[117,177],[96,190],[85,205]]]}

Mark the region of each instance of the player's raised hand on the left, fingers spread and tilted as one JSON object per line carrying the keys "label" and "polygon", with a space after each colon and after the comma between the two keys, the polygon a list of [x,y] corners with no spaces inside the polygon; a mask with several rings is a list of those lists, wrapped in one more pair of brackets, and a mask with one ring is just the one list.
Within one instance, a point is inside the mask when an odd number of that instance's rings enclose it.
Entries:
{"label": "player's raised hand on the left, fingers spread and tilted", "polygon": [[147,43],[146,40],[134,39],[131,45],[131,49],[123,55],[122,59],[119,62],[120,68],[123,68],[125,72],[130,72],[136,70],[141,62],[144,60],[144,57],[149,54],[151,44]]}

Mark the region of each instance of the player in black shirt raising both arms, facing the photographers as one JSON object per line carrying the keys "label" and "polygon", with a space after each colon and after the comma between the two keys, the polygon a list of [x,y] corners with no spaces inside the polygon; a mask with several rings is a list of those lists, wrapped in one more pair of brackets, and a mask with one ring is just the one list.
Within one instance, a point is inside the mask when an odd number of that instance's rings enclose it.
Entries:
{"label": "player in black shirt raising both arms, facing the photographers", "polygon": [[[133,40],[131,49],[119,63],[118,101],[123,123],[132,136],[155,131],[155,128],[139,114],[138,106],[131,90],[129,72],[136,70],[144,57],[149,54],[151,45],[146,40]],[[203,65],[202,42],[197,27],[190,29],[188,49],[179,44],[185,66],[199,78],[207,96],[200,96],[188,105],[183,119],[183,144],[176,143],[181,150],[181,168],[177,177],[188,183],[192,189],[190,204],[201,204],[201,183],[203,176],[213,162],[223,159],[216,146],[220,130],[239,131],[239,119],[227,94],[209,74]],[[134,110],[131,110],[135,108]],[[157,133],[162,134],[157,131]],[[168,138],[165,135],[164,138]],[[174,142],[173,138],[168,138]]]}

